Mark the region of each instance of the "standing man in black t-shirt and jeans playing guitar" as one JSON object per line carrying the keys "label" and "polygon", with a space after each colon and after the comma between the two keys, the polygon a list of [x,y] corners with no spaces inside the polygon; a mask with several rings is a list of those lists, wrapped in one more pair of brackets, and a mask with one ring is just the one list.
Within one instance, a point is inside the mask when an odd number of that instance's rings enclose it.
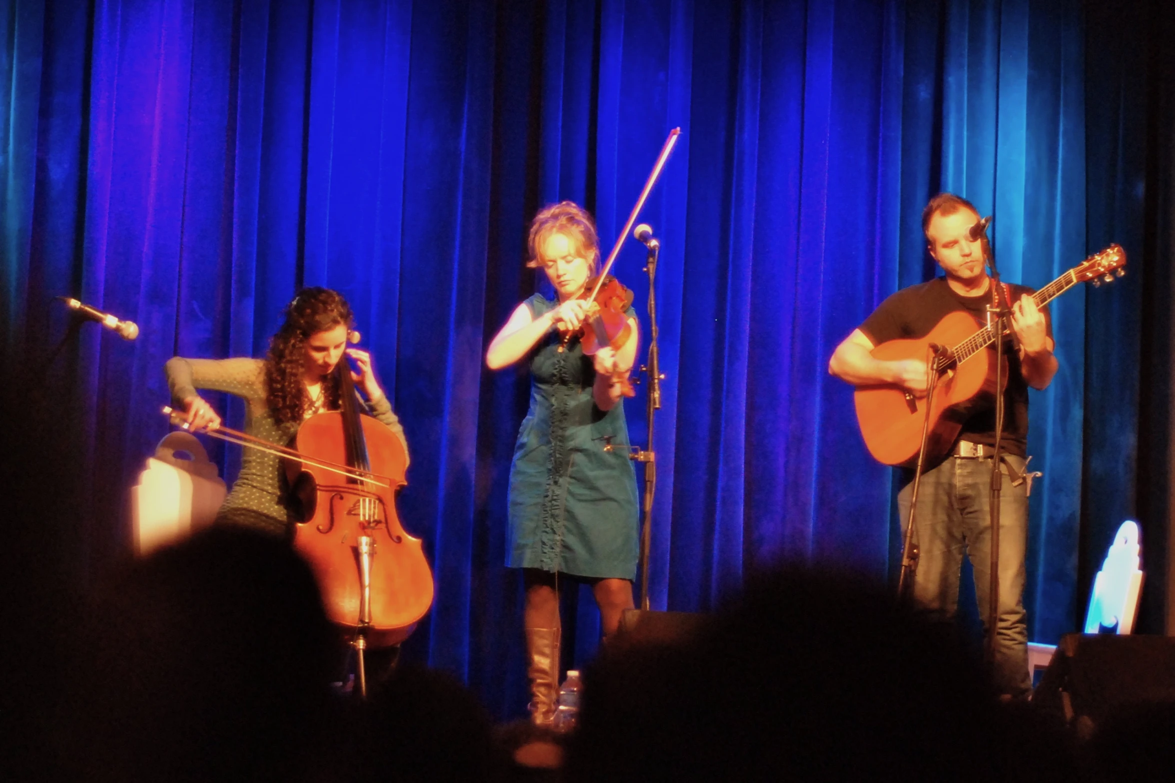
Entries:
{"label": "standing man in black t-shirt and jeans playing guitar", "polygon": [[[914,398],[925,397],[926,358],[882,359],[874,349],[894,339],[926,337],[951,312],[962,311],[986,323],[995,288],[987,275],[985,238],[972,238],[979,212],[965,198],[939,194],[922,210],[922,231],[931,256],[945,277],[912,285],[882,302],[860,328],[837,346],[828,371],[857,386],[891,385]],[[1000,691],[1026,696],[1030,688],[1027,626],[1023,609],[1025,549],[1028,532],[1027,461],[1028,386],[1045,389],[1056,373],[1048,310],[1039,308],[1032,290],[1002,286],[1012,303],[1014,345],[1007,350],[1003,433],[1000,440],[1003,485],[1000,499],[999,620],[993,674]],[[911,398],[913,399],[913,398]],[[994,396],[976,396],[953,447],[945,457],[928,455],[918,498],[914,535],[920,556],[913,598],[922,608],[953,617],[959,602],[959,575],[966,551],[985,626],[991,582],[991,518],[988,509],[993,444]],[[898,494],[901,518],[909,512],[912,471]],[[1015,484],[1014,484],[1015,481]],[[991,628],[985,628],[992,633]]]}

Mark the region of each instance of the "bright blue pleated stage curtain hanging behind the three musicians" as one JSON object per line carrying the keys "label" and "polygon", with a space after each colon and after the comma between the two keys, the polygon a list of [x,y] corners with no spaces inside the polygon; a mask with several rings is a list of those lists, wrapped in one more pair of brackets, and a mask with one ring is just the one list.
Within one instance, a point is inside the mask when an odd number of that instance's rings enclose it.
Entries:
{"label": "bright blue pleated stage curtain hanging behind the three musicians", "polygon": [[[260,356],[300,285],[336,288],[404,423],[400,513],[436,572],[407,655],[517,715],[522,590],[502,563],[528,380],[488,372],[484,349],[545,285],[523,266],[533,212],[584,203],[607,251],[680,127],[642,216],[663,247],[667,376],[652,606],[707,609],[784,559],[893,578],[894,477],[828,357],[934,274],[919,218],[939,190],[995,215],[1008,281],[1041,286],[1117,236],[1086,230],[1083,36],[1076,0],[9,2],[6,355],[51,355],[66,328],[54,295],[142,330],[85,329],[48,370],[73,425],[54,447],[68,475],[52,522],[69,544],[48,571],[85,592],[128,551],[126,491],[167,430],[168,357]],[[630,241],[616,266],[640,310],[643,259]],[[1130,308],[1121,289],[1089,296]],[[1045,477],[1026,595],[1047,641],[1083,610],[1083,471],[1124,475],[1134,457],[1127,440],[1116,464],[1082,451],[1083,412],[1114,394],[1087,380],[1087,357],[1102,369],[1141,339],[1130,318],[1087,333],[1082,292],[1053,323],[1061,371],[1032,398]],[[1136,407],[1117,409],[1121,432]],[[643,393],[627,414],[645,445]],[[231,475],[239,455],[213,451]],[[598,620],[586,590],[564,608],[578,664]]]}

